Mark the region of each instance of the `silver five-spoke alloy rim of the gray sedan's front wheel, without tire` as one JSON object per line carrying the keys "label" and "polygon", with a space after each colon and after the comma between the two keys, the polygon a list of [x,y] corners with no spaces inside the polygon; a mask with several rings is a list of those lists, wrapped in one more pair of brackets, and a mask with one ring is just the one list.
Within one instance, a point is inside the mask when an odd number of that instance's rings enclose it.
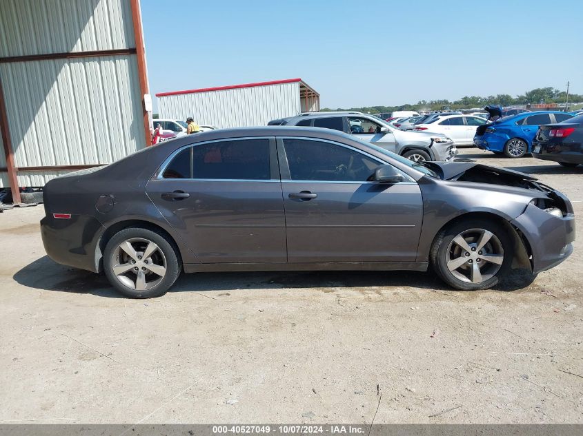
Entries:
{"label": "silver five-spoke alloy rim of the gray sedan's front wheel, without tire", "polygon": [[450,273],[466,283],[482,283],[500,271],[504,262],[502,242],[485,229],[469,229],[459,233],[446,251]]}

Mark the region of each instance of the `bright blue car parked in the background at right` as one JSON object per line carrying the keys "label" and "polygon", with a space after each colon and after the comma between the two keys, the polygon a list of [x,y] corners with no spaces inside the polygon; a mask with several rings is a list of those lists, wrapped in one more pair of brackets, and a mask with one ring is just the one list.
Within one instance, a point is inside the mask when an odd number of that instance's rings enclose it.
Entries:
{"label": "bright blue car parked in the background at right", "polygon": [[[491,116],[496,115],[500,116],[491,113]],[[524,112],[504,116],[493,123],[478,127],[474,145],[497,154],[504,153],[509,158],[522,158],[525,154],[531,153],[533,139],[541,124],[560,123],[569,118],[573,118],[573,115],[558,111]]]}

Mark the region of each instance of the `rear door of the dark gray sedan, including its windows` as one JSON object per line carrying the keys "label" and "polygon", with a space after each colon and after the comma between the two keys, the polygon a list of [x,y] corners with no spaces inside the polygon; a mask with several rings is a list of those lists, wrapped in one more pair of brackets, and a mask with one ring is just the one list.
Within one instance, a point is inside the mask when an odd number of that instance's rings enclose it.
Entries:
{"label": "rear door of the dark gray sedan, including its windows", "polygon": [[286,261],[275,139],[185,147],[146,191],[203,263]]}

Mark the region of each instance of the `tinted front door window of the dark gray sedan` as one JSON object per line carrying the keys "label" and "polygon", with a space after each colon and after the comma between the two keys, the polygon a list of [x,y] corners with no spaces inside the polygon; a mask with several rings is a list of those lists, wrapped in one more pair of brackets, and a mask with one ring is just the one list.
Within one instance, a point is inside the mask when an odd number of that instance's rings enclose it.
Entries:
{"label": "tinted front door window of the dark gray sedan", "polygon": [[379,162],[353,149],[307,139],[284,139],[292,180],[364,182]]}

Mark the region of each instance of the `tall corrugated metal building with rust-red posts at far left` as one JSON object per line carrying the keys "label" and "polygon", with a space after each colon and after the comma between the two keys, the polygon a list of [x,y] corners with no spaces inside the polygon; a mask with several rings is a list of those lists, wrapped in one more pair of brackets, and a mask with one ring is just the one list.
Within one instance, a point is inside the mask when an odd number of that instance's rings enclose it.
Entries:
{"label": "tall corrugated metal building with rust-red posts at far left", "polygon": [[0,1],[0,187],[150,143],[139,0]]}

